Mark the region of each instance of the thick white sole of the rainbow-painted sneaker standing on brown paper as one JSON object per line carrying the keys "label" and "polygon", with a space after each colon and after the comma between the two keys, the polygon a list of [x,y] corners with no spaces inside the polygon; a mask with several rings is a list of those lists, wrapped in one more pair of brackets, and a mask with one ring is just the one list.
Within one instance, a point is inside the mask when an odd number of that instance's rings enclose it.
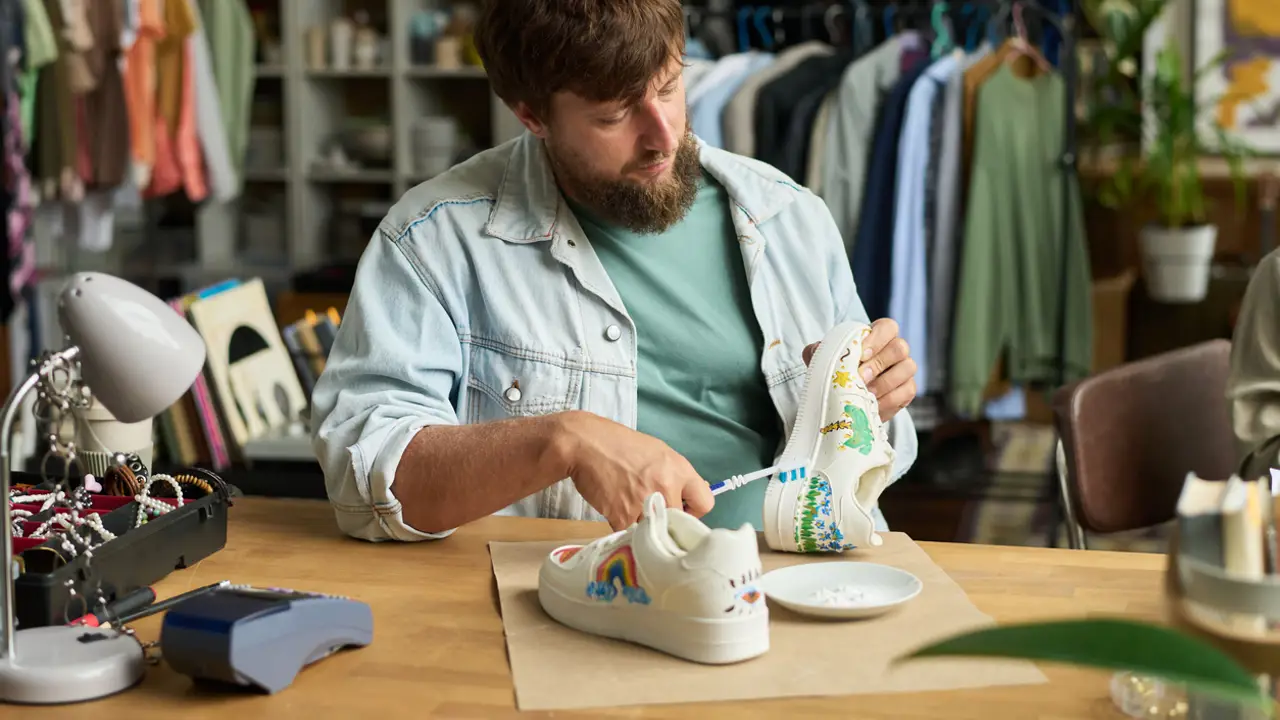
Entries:
{"label": "thick white sole of the rainbow-painted sneaker standing on brown paper", "polygon": [[713,620],[643,605],[599,605],[538,583],[538,601],[557,623],[707,665],[728,665],[769,650],[769,612]]}

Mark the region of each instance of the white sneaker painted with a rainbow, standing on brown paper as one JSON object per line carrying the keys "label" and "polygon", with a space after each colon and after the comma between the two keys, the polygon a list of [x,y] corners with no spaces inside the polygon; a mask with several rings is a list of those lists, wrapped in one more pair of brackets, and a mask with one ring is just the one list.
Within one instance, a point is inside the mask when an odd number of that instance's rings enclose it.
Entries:
{"label": "white sneaker painted with a rainbow, standing on brown paper", "polygon": [[718,665],[769,650],[759,577],[750,525],[713,530],[655,493],[630,528],[553,550],[538,575],[538,600],[556,621],[584,633]]}

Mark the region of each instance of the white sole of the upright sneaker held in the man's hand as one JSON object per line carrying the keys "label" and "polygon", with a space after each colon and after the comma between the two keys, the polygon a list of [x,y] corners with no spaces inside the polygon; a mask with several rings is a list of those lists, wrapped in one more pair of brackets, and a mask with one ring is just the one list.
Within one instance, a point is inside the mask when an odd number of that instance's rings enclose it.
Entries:
{"label": "white sole of the upright sneaker held in the man's hand", "polygon": [[[782,550],[783,552],[797,552],[799,550],[795,534],[795,510],[800,492],[808,483],[797,480],[812,475],[813,466],[818,461],[818,445],[822,442],[822,433],[819,432],[822,429],[822,411],[827,406],[827,396],[831,393],[831,383],[826,378],[831,375],[836,363],[840,361],[840,352],[845,351],[854,337],[863,332],[865,327],[865,323],[849,322],[832,328],[832,332],[827,333],[827,338],[832,338],[837,332],[840,334],[836,336],[836,340],[828,341],[824,338],[809,361],[809,368],[805,370],[805,392],[801,397],[800,407],[796,410],[796,421],[791,427],[791,436],[787,438],[787,445],[782,448],[782,456],[778,459],[778,465],[795,465],[796,469],[781,473],[777,478],[771,478],[769,487],[764,491],[764,512],[767,515],[773,514],[772,521],[769,518],[764,519],[764,542],[771,548]],[[823,378],[822,392],[809,392],[815,387],[813,384],[814,377]],[[808,445],[804,438],[810,438]],[[780,482],[782,475],[791,477],[787,478],[788,482]],[[790,509],[790,512],[783,512],[783,509]]]}

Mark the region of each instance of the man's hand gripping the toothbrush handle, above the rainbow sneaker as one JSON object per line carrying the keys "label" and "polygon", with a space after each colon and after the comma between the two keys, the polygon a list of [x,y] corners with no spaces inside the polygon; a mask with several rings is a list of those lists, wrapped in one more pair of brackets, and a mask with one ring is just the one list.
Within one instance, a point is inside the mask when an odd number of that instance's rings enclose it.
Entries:
{"label": "man's hand gripping the toothbrush handle, above the rainbow sneaker", "polygon": [[577,492],[614,530],[639,520],[655,492],[667,498],[667,507],[685,506],[698,518],[716,505],[710,487],[689,460],[660,439],[613,420],[564,413],[558,445]]}

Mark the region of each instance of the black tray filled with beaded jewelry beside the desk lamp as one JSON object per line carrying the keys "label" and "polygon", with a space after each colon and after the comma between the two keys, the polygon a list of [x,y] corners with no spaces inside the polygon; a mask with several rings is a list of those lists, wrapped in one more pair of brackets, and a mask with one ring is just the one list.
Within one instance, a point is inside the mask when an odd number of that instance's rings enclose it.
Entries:
{"label": "black tray filled with beaded jewelry beside the desk lamp", "polygon": [[[40,480],[38,477],[20,475],[23,474],[14,473],[15,483]],[[155,500],[177,503],[174,498]],[[228,507],[228,493],[215,489],[198,500],[187,500],[182,507],[148,516],[146,523],[134,527],[140,506],[132,497],[96,495],[93,505],[82,514],[97,512],[102,527],[115,538],[95,547],[91,559],[86,560],[83,553],[78,553],[69,562],[64,559],[65,551],[56,534],[47,539],[33,539],[17,537],[14,533],[13,552],[20,562],[20,574],[14,582],[17,626],[65,624],[97,603],[100,584],[102,597],[106,602],[113,602],[119,596],[154,584],[174,570],[189,568],[209,557],[227,546]],[[40,507],[10,505],[10,509],[36,511]],[[38,518],[45,519],[47,515]],[[92,530],[86,528],[79,532]],[[74,597],[72,588],[76,591]]]}

